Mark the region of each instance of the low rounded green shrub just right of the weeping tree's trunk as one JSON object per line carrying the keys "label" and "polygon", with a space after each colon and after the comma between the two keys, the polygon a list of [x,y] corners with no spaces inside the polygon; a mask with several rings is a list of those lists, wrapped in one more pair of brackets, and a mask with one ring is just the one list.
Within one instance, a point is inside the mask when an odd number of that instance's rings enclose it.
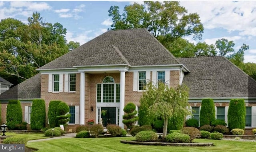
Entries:
{"label": "low rounded green shrub just right of the weeping tree's trunk", "polygon": [[181,134],[181,133],[171,133],[166,136],[166,140],[168,142],[175,142],[175,143],[188,143],[190,142],[190,137],[188,134]]}

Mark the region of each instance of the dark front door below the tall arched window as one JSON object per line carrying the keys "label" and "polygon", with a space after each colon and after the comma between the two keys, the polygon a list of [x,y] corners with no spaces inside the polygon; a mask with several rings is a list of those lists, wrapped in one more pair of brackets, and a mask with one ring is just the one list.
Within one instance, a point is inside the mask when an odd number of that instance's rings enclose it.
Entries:
{"label": "dark front door below the tall arched window", "polygon": [[101,107],[101,110],[107,110],[106,115],[101,114],[102,125],[116,124],[116,107]]}

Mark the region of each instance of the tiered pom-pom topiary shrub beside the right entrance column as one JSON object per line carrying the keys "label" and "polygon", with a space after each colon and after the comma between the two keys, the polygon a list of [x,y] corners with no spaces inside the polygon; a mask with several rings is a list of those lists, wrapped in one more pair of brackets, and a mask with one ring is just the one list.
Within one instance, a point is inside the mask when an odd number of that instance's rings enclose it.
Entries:
{"label": "tiered pom-pom topiary shrub beside the right entrance column", "polygon": [[128,103],[126,106],[124,106],[124,112],[126,114],[123,115],[123,123],[126,125],[127,128],[132,128],[134,123],[138,121],[139,117],[136,116],[137,111],[135,110],[136,106],[134,103]]}

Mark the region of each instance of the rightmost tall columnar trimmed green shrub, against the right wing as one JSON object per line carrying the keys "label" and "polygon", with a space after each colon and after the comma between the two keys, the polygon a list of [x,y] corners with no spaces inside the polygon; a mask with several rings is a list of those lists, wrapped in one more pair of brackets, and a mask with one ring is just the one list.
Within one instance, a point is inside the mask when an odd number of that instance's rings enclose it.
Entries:
{"label": "rightmost tall columnar trimmed green shrub, against the right wing", "polygon": [[244,129],[245,127],[245,103],[244,99],[231,99],[228,107],[228,128]]}

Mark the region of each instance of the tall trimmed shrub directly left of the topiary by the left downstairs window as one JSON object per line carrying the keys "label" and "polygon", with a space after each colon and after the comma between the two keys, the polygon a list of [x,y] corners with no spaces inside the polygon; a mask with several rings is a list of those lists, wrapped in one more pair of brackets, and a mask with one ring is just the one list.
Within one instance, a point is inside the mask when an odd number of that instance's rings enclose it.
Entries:
{"label": "tall trimmed shrub directly left of the topiary by the left downstairs window", "polygon": [[61,101],[50,101],[48,110],[49,125],[51,128],[58,127],[58,105]]}

